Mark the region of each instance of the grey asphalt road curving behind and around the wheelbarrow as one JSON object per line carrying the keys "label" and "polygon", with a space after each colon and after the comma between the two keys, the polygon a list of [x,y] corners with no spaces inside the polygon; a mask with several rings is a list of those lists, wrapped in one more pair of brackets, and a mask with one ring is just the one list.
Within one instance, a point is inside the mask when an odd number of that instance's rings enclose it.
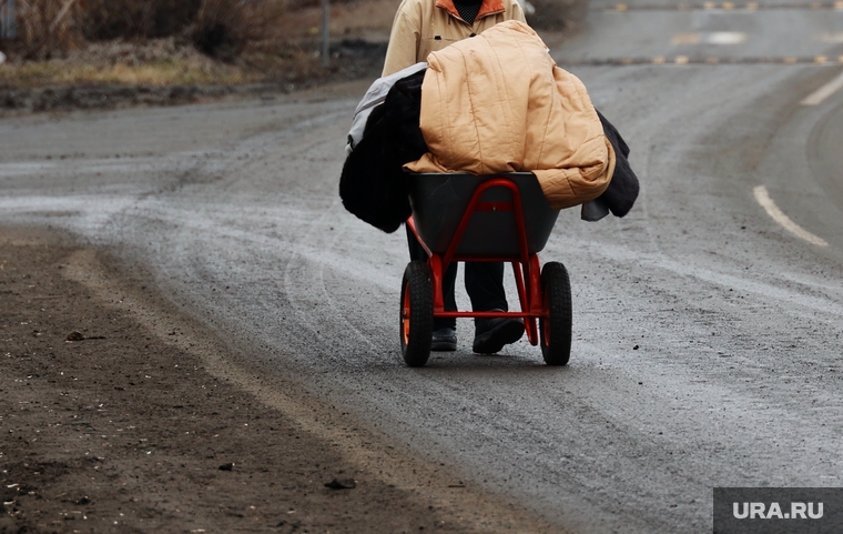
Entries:
{"label": "grey asphalt road curving behind and around the wheelbarrow", "polygon": [[567,367],[524,340],[475,356],[468,321],[404,366],[403,233],[336,194],[365,83],[2,120],[0,223],[143,265],[251,357],[560,525],[710,532],[714,486],[843,484],[843,92],[800,103],[843,70],[843,11],[658,3],[592,2],[552,51],[642,180],[627,218],[568,210],[540,254],[571,274]]}

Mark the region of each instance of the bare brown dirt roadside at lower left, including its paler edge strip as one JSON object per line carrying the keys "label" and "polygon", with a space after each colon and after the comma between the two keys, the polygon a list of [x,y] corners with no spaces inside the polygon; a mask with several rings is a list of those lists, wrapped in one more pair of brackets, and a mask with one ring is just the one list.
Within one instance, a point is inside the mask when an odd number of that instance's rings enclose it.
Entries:
{"label": "bare brown dirt roadside at lower left, including its paler edge strip", "polygon": [[0,229],[0,533],[559,532],[109,265]]}

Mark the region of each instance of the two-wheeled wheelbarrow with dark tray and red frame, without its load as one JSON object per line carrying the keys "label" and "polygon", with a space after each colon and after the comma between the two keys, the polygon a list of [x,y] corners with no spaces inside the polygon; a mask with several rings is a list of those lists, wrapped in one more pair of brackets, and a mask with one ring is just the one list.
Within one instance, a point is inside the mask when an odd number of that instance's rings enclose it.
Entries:
{"label": "two-wheeled wheelbarrow with dark tray and red frame, without its load", "polygon": [[[527,339],[541,343],[548,365],[565,365],[571,351],[571,290],[559,262],[539,263],[559,211],[550,209],[535,174],[512,172],[409,174],[413,215],[407,225],[428,255],[413,261],[402,281],[404,361],[430,356],[434,318],[519,318]],[[446,311],[443,273],[450,262],[509,262],[520,311]],[[537,326],[538,321],[538,326]]]}

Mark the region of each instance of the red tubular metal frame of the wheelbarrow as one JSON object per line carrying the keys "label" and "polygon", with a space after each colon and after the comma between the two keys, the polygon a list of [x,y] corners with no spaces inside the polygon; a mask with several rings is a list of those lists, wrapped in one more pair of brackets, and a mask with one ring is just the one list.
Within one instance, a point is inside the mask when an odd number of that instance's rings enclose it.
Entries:
{"label": "red tubular metal frame of the wheelbarrow", "polygon": [[[480,199],[483,194],[492,188],[505,188],[511,191],[512,198],[508,202],[484,202]],[[463,234],[468,228],[468,223],[475,213],[480,211],[511,211],[515,212],[515,222],[517,226],[517,236],[519,243],[518,255],[459,255],[456,253],[459,243],[463,241]],[[457,226],[454,238],[448,244],[444,255],[430,251],[427,244],[416,230],[416,223],[413,215],[407,219],[407,226],[413,231],[422,248],[427,252],[427,264],[430,268],[434,290],[434,318],[520,318],[524,320],[524,328],[530,344],[537,345],[539,342],[537,319],[547,319],[549,310],[541,295],[541,264],[539,256],[529,253],[527,246],[527,230],[524,222],[524,209],[521,206],[521,193],[518,185],[506,178],[495,178],[483,182],[477,187],[471,200],[463,214],[459,225]],[[518,289],[518,300],[521,304],[520,312],[460,312],[446,311],[445,299],[443,298],[441,280],[443,273],[448,269],[450,262],[471,261],[471,262],[509,262],[515,273],[516,286]]]}

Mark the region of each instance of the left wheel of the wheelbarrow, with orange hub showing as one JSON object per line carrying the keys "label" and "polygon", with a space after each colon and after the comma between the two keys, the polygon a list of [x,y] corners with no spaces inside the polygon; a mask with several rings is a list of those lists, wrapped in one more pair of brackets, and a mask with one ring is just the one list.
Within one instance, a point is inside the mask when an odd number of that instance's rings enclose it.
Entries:
{"label": "left wheel of the wheelbarrow, with orange hub showing", "polygon": [[430,268],[414,261],[402,281],[402,354],[410,367],[420,367],[430,357],[434,335],[434,286]]}

